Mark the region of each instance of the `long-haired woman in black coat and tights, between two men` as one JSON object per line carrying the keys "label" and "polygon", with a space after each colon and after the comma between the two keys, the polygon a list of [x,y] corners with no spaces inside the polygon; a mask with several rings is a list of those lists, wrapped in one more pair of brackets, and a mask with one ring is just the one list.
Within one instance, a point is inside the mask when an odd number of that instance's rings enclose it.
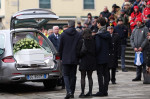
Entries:
{"label": "long-haired woman in black coat and tights, between two men", "polygon": [[[82,49],[82,45],[85,45],[86,51],[80,54],[79,71],[81,72],[81,94],[79,97],[92,96],[93,79],[92,73],[96,69],[96,57],[95,57],[95,40],[92,37],[90,29],[83,31],[83,39],[79,43],[79,48]],[[85,95],[85,77],[88,76],[89,91]]]}

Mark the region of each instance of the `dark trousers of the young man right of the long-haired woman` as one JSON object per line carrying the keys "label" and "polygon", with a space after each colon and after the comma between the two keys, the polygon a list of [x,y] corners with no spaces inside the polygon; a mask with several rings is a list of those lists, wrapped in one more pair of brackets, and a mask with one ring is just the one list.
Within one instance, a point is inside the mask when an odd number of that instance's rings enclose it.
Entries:
{"label": "dark trousers of the young man right of the long-haired woman", "polygon": [[98,64],[97,76],[99,84],[99,92],[106,94],[109,85],[109,69],[107,64]]}

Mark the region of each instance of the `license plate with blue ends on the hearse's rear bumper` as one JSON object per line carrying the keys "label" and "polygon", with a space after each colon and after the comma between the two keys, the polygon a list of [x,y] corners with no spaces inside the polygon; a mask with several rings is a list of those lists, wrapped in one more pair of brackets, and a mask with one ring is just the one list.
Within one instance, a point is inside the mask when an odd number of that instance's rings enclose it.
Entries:
{"label": "license plate with blue ends on the hearse's rear bumper", "polygon": [[27,75],[27,80],[47,79],[48,74]]}

